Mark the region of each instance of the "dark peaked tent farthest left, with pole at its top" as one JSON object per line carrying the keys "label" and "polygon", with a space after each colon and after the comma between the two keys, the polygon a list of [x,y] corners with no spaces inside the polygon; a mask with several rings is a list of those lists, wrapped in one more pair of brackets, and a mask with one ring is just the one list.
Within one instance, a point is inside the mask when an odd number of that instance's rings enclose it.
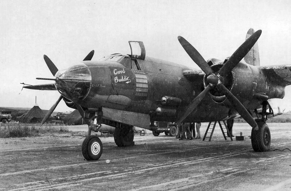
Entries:
{"label": "dark peaked tent farthest left, with pole at its top", "polygon": [[36,123],[41,122],[44,117],[45,113],[35,104],[28,112],[17,117],[17,120],[24,123]]}

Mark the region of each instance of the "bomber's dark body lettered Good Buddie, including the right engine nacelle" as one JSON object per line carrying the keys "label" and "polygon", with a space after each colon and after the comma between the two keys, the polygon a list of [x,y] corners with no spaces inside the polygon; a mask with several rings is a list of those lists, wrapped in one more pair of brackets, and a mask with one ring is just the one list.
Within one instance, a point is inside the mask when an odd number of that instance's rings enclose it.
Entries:
{"label": "bomber's dark body lettered Good Buddie, including the right engine nacelle", "polygon": [[[79,73],[78,82],[56,82],[56,88],[83,108],[114,108],[149,114],[157,121],[175,121],[191,100],[204,90],[204,73],[189,79],[183,74],[185,70],[191,68],[151,57],[141,60],[116,54],[100,61],[82,61],[73,69],[61,71],[56,74],[57,78],[70,78]],[[228,89],[248,110],[258,108],[264,95],[268,98],[284,96],[285,87],[266,80],[266,74],[257,66],[239,63],[232,71],[231,80]],[[165,96],[181,102],[163,104]],[[202,100],[186,121],[217,121],[236,115],[228,100],[214,92]]]}

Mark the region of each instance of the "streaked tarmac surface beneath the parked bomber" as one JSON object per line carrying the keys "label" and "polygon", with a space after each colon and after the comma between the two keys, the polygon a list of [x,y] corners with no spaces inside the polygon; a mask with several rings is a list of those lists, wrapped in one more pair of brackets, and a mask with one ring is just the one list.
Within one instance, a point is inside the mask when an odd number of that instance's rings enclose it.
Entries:
{"label": "streaked tarmac surface beneath the parked bomber", "polygon": [[84,160],[82,133],[1,138],[0,191],[291,190],[291,152],[275,150],[291,149],[291,124],[268,125],[272,151],[264,153],[253,151],[251,127],[243,123],[234,124],[233,134],[243,132],[244,141],[224,140],[217,127],[211,141],[202,141],[206,123],[194,140],[148,131],[135,134],[135,146],[118,147],[103,135],[97,161]]}

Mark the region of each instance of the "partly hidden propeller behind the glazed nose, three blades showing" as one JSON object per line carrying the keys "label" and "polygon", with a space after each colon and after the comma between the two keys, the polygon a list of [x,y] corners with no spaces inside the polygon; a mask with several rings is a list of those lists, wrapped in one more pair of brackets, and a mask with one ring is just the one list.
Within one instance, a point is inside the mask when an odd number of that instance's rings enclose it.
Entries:
{"label": "partly hidden propeller behind the glazed nose, three blades showing", "polygon": [[[89,52],[89,54],[84,58],[83,61],[87,61],[87,60],[91,60],[92,57],[94,55],[94,50],[92,50],[91,52]],[[49,57],[47,57],[47,55],[43,55],[43,58],[45,59],[45,63],[47,64],[47,67],[49,68],[49,70],[51,71],[52,75],[55,76],[56,73],[58,72],[58,68],[56,67],[56,65],[54,65],[54,63],[49,59]],[[61,95],[58,100],[56,101],[56,103],[54,103],[54,105],[49,109],[49,111],[45,114],[45,117],[42,119],[41,121],[41,125],[43,125],[47,119],[49,118],[49,116],[52,115],[52,113],[54,112],[56,106],[58,106],[58,103],[60,103],[61,99],[63,99],[63,96]]]}

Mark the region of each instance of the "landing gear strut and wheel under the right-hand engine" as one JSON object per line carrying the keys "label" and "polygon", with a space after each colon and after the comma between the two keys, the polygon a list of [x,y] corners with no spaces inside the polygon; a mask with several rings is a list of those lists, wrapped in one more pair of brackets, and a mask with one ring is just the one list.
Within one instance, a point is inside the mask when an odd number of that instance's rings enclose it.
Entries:
{"label": "landing gear strut and wheel under the right-hand engine", "polygon": [[[251,132],[252,147],[255,152],[265,152],[270,150],[271,147],[271,134],[268,125],[266,124],[267,115],[272,114],[271,111],[267,112],[267,101],[263,102],[262,112],[255,113],[262,115],[261,119],[256,119],[258,129],[253,128]],[[271,109],[270,109],[271,110]]]}

